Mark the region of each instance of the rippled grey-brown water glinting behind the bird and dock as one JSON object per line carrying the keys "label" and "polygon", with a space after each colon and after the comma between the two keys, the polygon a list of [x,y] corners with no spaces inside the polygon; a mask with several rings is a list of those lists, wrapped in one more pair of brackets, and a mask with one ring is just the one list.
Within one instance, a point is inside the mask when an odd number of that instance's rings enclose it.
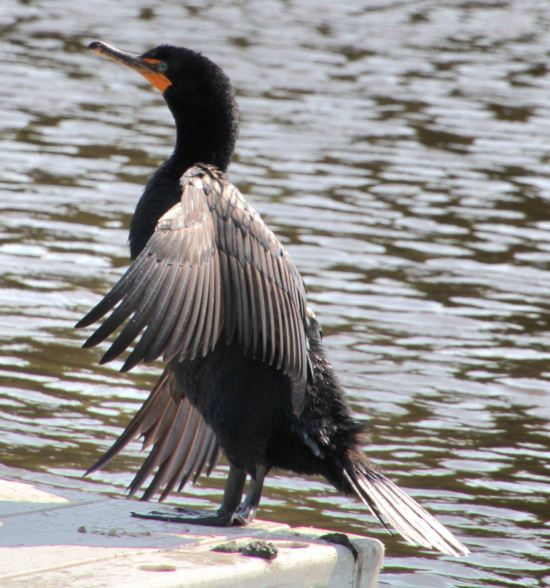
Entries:
{"label": "rippled grey-brown water glinting behind the bird and dock", "polygon": [[238,90],[231,178],[303,273],[370,454],[472,555],[407,546],[321,480],[270,476],[259,516],[379,537],[380,586],[550,586],[549,31],[541,0],[3,0],[0,461],[81,476],[156,380],[72,328],[173,143],[162,96],[84,48],[173,42]]}

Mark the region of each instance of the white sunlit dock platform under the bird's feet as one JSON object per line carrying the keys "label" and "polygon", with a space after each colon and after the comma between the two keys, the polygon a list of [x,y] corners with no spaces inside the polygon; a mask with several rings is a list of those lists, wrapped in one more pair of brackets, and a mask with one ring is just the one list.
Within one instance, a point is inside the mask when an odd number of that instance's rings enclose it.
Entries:
{"label": "white sunlit dock platform under the bird's feet", "polygon": [[[374,588],[383,562],[376,539],[350,535],[350,548],[321,529],[262,520],[227,529],[136,519],[130,510],[170,508],[41,477],[0,465],[1,588]],[[212,550],[257,540],[277,556]]]}

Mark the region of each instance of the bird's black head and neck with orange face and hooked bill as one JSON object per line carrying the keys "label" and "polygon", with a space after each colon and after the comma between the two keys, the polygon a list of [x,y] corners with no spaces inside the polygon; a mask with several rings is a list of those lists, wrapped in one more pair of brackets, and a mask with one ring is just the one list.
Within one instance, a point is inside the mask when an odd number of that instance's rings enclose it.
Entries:
{"label": "bird's black head and neck with orange face and hooked bill", "polygon": [[137,71],[162,92],[176,121],[174,156],[185,159],[184,166],[212,163],[226,171],[239,134],[239,111],[222,68],[200,53],[174,45],[159,45],[142,55],[100,41],[88,49]]}

